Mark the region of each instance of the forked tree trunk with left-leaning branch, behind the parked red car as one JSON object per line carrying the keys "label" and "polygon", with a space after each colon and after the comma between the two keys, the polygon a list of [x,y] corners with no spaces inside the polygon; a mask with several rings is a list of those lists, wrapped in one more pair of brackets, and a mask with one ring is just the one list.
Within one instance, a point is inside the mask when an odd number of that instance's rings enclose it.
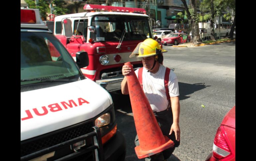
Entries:
{"label": "forked tree trunk with left-leaning branch, behind the parked red car", "polygon": [[196,16],[197,15],[196,14],[196,0],[190,0],[190,2],[191,2],[190,10],[188,8],[186,0],[181,0],[181,1],[184,4],[184,7],[185,7],[187,15],[188,15],[187,17],[188,17],[189,23],[192,28],[192,39],[191,39],[192,44],[193,45],[199,44],[202,41],[201,41],[200,35],[199,35],[199,26],[198,26],[199,19]]}

